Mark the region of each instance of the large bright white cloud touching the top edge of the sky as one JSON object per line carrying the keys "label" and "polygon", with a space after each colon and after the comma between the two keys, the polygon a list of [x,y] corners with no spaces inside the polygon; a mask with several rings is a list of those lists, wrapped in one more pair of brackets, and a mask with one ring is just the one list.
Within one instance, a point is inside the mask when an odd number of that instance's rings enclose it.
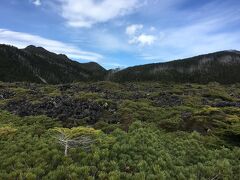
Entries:
{"label": "large bright white cloud touching the top edge of the sky", "polygon": [[91,27],[131,13],[139,0],[57,0],[61,15],[73,27]]}

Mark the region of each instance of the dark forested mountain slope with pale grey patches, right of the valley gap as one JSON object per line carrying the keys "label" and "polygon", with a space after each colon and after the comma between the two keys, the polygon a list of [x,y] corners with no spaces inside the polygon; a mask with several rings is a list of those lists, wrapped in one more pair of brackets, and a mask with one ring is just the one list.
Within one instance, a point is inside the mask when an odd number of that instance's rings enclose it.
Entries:
{"label": "dark forested mountain slope with pale grey patches, right of the valley gap", "polygon": [[129,67],[115,73],[115,81],[162,81],[224,84],[240,82],[240,52],[221,51],[167,63]]}

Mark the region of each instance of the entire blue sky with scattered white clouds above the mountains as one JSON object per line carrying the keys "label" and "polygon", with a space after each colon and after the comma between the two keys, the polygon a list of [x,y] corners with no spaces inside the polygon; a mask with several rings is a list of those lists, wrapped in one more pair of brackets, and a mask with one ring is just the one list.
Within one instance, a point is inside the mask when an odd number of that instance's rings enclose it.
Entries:
{"label": "entire blue sky with scattered white clouds above the mountains", "polygon": [[240,49],[239,0],[1,0],[0,43],[105,68]]}

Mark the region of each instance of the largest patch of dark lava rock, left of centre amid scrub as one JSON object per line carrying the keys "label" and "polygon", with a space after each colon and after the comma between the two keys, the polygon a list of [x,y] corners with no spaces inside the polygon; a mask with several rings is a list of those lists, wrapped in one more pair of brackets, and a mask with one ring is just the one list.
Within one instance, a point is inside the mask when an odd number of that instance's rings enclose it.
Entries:
{"label": "largest patch of dark lava rock, left of centre amid scrub", "polygon": [[37,104],[32,104],[27,100],[10,101],[4,109],[19,116],[47,115],[51,118],[57,118],[65,124],[70,123],[68,119],[74,119],[74,121],[85,119],[86,123],[94,124],[103,111],[114,113],[116,105],[62,96],[47,98]]}

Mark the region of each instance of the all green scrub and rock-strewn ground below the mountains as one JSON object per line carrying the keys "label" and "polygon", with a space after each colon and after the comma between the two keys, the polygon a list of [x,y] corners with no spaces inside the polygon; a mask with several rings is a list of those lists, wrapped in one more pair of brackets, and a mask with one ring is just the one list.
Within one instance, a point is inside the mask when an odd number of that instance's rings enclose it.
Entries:
{"label": "all green scrub and rock-strewn ground below the mountains", "polygon": [[0,179],[240,179],[237,84],[0,86]]}

